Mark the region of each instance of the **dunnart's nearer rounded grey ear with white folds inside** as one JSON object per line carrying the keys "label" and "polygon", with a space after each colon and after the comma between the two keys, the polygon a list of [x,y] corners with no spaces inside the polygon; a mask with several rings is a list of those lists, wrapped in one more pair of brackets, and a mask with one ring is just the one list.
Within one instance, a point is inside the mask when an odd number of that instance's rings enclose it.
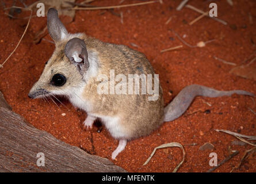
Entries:
{"label": "dunnart's nearer rounded grey ear with white folds inside", "polygon": [[88,53],[83,40],[78,38],[71,39],[67,42],[64,52],[72,63],[77,64],[78,70],[81,74],[88,70]]}

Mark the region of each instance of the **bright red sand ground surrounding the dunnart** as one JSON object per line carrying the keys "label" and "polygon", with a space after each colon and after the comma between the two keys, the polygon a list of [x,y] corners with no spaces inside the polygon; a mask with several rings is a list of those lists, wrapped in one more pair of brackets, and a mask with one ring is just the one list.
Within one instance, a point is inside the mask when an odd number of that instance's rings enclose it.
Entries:
{"label": "bright red sand ground surrounding the dunnart", "polygon": [[[97,0],[93,5],[118,5],[119,1]],[[123,4],[135,2],[141,1],[125,1]],[[255,81],[230,74],[229,71],[234,66],[213,58],[216,56],[239,66],[255,51],[255,1],[234,1],[234,6],[228,5],[226,1],[216,1],[219,18],[232,26],[220,24],[206,17],[190,26],[186,22],[194,20],[200,14],[187,8],[176,11],[175,7],[180,1],[163,2],[162,5],[154,3],[115,9],[117,13],[123,11],[124,24],[121,24],[120,17],[109,11],[104,14],[100,14],[102,10],[77,11],[74,22],[66,24],[66,28],[71,33],[85,32],[102,41],[128,45],[143,52],[159,74],[166,104],[183,87],[193,83],[219,90],[243,89],[256,94]],[[32,1],[26,3],[30,4]],[[204,11],[209,10],[208,1],[191,1],[190,4]],[[6,3],[7,7],[11,5],[12,1]],[[249,13],[253,17],[253,25],[249,22]],[[2,8],[0,15],[0,60],[3,62],[16,47],[28,19],[10,20]],[[24,12],[17,16],[26,17],[29,13]],[[173,18],[166,25],[165,22],[170,16]],[[36,128],[47,131],[68,144],[81,147],[90,154],[111,159],[111,153],[117,147],[117,140],[114,140],[105,128],[100,133],[97,131],[101,128],[96,126],[91,131],[83,131],[82,122],[86,118],[86,113],[75,110],[68,101],[63,101],[67,108],[58,103],[58,109],[51,101],[47,103],[43,99],[28,98],[30,88],[39,79],[44,63],[55,48],[54,44],[44,40],[37,45],[32,43],[35,33],[43,29],[46,23],[46,17],[32,18],[28,32],[17,51],[4,68],[0,69],[0,90],[14,112],[21,114]],[[162,49],[182,44],[171,29],[180,36],[186,34],[185,40],[191,45],[196,45],[199,41],[216,41],[204,48],[184,46],[175,51],[160,53]],[[49,35],[45,39],[51,40]],[[139,47],[133,47],[131,43]],[[255,65],[256,62],[251,66]],[[172,95],[169,93],[170,90],[173,91]],[[179,148],[158,150],[147,166],[142,165],[158,145],[178,142],[184,145],[186,152],[185,162],[178,171],[205,172],[211,168],[209,153],[216,152],[220,162],[229,155],[228,147],[231,142],[237,140],[234,136],[216,132],[214,129],[228,129],[244,135],[255,135],[255,115],[248,109],[256,112],[254,101],[255,98],[239,95],[221,98],[197,97],[178,120],[165,122],[150,136],[129,141],[125,150],[113,162],[132,172],[170,172],[182,160],[182,151]],[[207,109],[211,112],[205,113]],[[62,116],[62,113],[66,113],[66,116]],[[212,143],[215,150],[199,151],[200,146],[207,142]],[[189,145],[192,143],[197,145]],[[229,172],[232,167],[239,164],[244,151],[252,147],[231,145],[231,148],[238,150],[239,154],[219,167],[216,172]],[[254,152],[235,172],[255,172],[255,156]]]}

